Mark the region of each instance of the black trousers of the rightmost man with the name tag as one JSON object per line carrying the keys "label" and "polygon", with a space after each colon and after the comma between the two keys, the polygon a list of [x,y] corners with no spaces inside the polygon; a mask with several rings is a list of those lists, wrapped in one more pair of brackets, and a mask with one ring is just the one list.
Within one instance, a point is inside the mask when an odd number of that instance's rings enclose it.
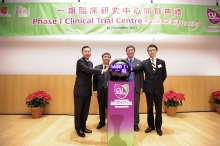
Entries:
{"label": "black trousers of the rightmost man with the name tag", "polygon": [[[162,95],[145,93],[147,98],[147,123],[149,127],[161,128],[162,126]],[[156,109],[156,118],[154,123],[153,102]]]}

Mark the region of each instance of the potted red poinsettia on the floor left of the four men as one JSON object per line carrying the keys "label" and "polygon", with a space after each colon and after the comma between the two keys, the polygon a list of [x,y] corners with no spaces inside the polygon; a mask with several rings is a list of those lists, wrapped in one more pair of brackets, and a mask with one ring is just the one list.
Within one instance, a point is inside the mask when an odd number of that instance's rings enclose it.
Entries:
{"label": "potted red poinsettia on the floor left of the four men", "polygon": [[30,107],[34,119],[42,116],[43,108],[49,104],[51,99],[51,95],[45,91],[31,93],[25,98],[26,105]]}

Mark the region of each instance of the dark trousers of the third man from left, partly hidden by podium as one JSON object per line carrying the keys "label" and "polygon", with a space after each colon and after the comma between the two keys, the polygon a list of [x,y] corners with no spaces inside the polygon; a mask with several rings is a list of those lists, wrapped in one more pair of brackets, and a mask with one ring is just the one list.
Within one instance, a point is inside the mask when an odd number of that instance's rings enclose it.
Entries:
{"label": "dark trousers of the third man from left, partly hidden by podium", "polygon": [[138,125],[140,122],[139,103],[140,103],[140,94],[137,93],[134,89],[134,125]]}

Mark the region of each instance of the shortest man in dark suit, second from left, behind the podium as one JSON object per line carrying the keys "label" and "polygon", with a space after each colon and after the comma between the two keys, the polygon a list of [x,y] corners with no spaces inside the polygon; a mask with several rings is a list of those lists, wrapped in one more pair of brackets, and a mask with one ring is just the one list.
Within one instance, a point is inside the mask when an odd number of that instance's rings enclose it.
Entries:
{"label": "shortest man in dark suit, second from left, behind the podium", "polygon": [[[96,69],[105,69],[109,66],[111,55],[109,53],[102,54],[102,64],[95,66]],[[110,80],[109,72],[104,74],[95,74],[93,76],[93,91],[94,95],[98,97],[99,104],[99,118],[100,122],[97,129],[101,129],[105,126],[105,111],[107,109],[108,102],[108,81]]]}

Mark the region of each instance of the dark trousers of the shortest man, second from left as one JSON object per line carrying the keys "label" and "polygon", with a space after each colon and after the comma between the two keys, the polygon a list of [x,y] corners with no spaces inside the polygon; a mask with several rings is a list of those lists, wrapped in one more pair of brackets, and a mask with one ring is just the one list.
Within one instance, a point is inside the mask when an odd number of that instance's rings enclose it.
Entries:
{"label": "dark trousers of the shortest man, second from left", "polygon": [[107,108],[107,102],[108,88],[103,87],[100,96],[98,96],[100,124],[105,124],[105,108]]}

